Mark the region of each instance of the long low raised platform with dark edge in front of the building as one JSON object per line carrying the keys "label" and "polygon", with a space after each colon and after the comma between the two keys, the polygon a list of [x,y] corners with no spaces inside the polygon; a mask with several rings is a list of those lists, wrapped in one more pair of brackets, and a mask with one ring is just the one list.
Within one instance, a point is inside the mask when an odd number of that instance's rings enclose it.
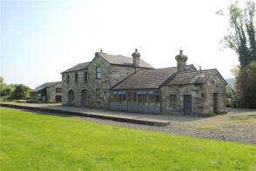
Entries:
{"label": "long low raised platform with dark edge in front of the building", "polygon": [[112,120],[117,122],[138,123],[158,127],[167,126],[171,122],[165,119],[157,119],[156,117],[160,116],[160,114],[136,114],[102,109],[87,109],[82,107],[62,106],[60,104],[3,102],[0,103],[0,106],[14,109],[26,109],[32,111],[41,111],[64,115],[79,115],[84,117]]}

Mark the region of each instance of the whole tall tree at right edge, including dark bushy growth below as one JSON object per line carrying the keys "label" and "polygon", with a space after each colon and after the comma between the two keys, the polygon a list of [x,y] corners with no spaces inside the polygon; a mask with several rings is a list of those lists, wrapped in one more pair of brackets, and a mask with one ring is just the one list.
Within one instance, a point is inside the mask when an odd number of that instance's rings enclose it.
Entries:
{"label": "whole tall tree at right edge, including dark bushy growth below", "polygon": [[[236,78],[239,107],[256,108],[256,5],[248,1],[242,9],[238,3],[233,3],[228,11],[226,16],[230,18],[230,28],[222,43],[239,56],[240,65],[232,70]],[[222,10],[217,13],[224,16]]]}

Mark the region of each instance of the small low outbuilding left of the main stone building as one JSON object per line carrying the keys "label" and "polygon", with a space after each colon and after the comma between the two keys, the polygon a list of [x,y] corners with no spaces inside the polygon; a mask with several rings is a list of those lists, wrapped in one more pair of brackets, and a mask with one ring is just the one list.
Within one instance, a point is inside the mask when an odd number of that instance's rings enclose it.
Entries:
{"label": "small low outbuilding left of the main stone building", "polygon": [[30,92],[31,102],[61,102],[62,82],[45,82]]}

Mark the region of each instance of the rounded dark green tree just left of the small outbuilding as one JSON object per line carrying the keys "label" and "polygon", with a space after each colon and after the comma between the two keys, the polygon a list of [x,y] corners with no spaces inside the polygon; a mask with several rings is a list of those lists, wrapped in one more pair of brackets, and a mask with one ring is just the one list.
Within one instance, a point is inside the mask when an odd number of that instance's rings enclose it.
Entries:
{"label": "rounded dark green tree just left of the small outbuilding", "polygon": [[25,99],[30,96],[30,88],[24,84],[16,84],[15,89],[11,93],[11,97],[16,100]]}

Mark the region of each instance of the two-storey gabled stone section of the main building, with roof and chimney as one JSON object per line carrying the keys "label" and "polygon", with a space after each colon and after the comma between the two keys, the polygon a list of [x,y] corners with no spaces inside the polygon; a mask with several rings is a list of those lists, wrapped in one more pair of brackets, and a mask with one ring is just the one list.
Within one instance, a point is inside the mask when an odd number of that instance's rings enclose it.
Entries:
{"label": "two-storey gabled stone section of the main building, with roof and chimney", "polygon": [[91,62],[62,72],[63,105],[110,109],[110,89],[136,71],[153,69],[136,56],[112,56],[97,52]]}

